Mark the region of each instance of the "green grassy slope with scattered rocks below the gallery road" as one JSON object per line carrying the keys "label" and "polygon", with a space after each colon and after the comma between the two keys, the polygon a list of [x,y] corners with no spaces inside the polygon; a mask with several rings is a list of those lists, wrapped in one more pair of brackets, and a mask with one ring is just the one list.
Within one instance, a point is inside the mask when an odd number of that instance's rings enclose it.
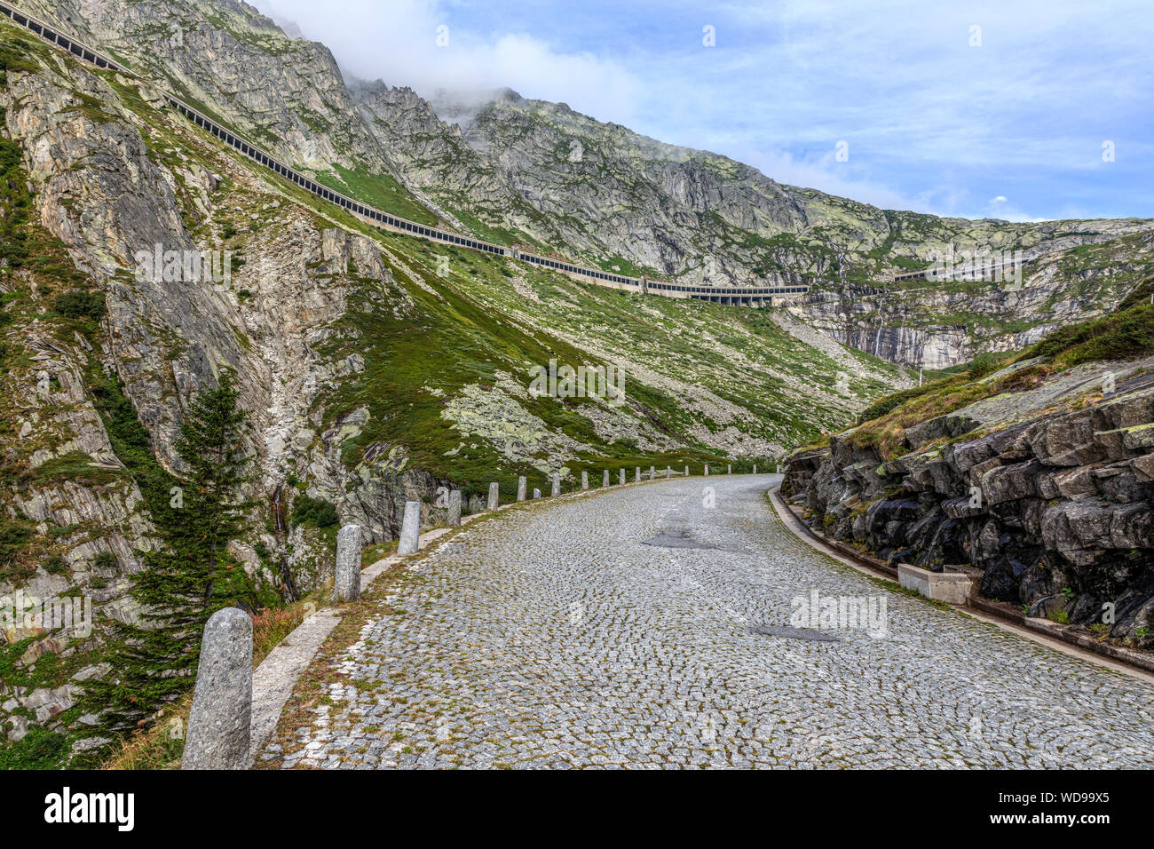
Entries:
{"label": "green grassy slope with scattered rocks below the gallery road", "polygon": [[[696,431],[700,426],[720,432],[735,424],[759,439],[790,445],[842,423],[847,408],[860,403],[856,397],[876,396],[898,377],[892,366],[875,362],[889,381],[855,379],[854,397],[830,395],[837,364],[800,345],[767,314],[643,298],[404,236],[377,239],[402,260],[392,271],[407,284],[415,316],[374,307],[374,282],[359,281],[360,301],[344,319],[357,338],[325,351],[366,359],[365,372],[327,404],[334,414],[361,404],[370,412],[369,423],[345,447],[350,463],[359,462],[373,442],[385,442],[404,446],[410,462],[436,476],[474,489],[493,479],[511,487],[516,475],[534,474],[549,457],[537,452],[535,462],[508,462],[484,439],[464,438],[442,414],[470,387],[490,389],[499,372],[527,386],[529,366],[545,366],[550,357],[575,366],[623,360],[628,405],[677,444],[673,450],[640,452],[628,439],[607,442],[583,415],[598,408],[595,402],[519,399],[546,430],[593,446],[575,452],[567,464],[575,472],[720,461],[729,452],[711,446]],[[440,256],[449,260],[444,278],[434,270]],[[511,275],[518,277],[517,288]],[[748,362],[734,363],[734,352]],[[685,409],[683,395],[696,385],[740,408],[739,420]]]}

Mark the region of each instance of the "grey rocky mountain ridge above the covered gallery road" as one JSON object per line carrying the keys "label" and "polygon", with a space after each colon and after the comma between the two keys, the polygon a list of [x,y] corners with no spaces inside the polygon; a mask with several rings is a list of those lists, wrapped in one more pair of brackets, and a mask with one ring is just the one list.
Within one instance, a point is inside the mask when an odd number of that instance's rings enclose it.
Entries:
{"label": "grey rocky mountain ridge above the covered gallery road", "polygon": [[[430,103],[380,81],[346,84],[325,47],[234,0],[27,5],[366,202],[606,270],[695,285],[805,283],[820,297],[799,318],[906,366],[1028,344],[1114,306],[1125,293],[1119,269],[1151,269],[1149,221],[1017,224],[882,210],[508,90],[481,103],[440,92]],[[927,297],[889,283],[951,250],[1046,254],[1051,269],[1027,270],[1028,297],[971,288],[965,310],[949,286]],[[1103,252],[1112,254],[1104,265],[1087,255]],[[855,288],[878,284],[894,290],[882,308],[857,301]]]}

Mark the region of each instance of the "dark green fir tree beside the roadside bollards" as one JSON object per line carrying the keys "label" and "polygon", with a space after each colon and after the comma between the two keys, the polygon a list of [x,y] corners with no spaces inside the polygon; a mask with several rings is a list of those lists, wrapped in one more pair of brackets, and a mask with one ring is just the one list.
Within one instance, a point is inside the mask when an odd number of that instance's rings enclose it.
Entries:
{"label": "dark green fir tree beside the roadside bollards", "polygon": [[[250,502],[240,496],[250,457],[249,429],[237,401],[235,375],[224,371],[215,389],[203,389],[180,424],[177,455],[187,470],[179,485],[159,490],[159,476],[142,482],[163,548],[144,554],[129,595],[140,624],[117,624],[110,640],[112,670],[85,693],[105,731],[125,733],[195,680],[204,624],[227,606],[252,609],[255,594],[243,567],[226,550],[245,529]],[[164,476],[168,482],[171,477]]]}

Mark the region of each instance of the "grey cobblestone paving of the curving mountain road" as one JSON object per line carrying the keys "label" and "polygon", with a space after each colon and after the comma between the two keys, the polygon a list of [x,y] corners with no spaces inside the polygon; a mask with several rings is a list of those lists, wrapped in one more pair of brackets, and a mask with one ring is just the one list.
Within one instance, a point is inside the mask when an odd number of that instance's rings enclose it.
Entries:
{"label": "grey cobblestone paving of the curving mountain road", "polygon": [[[891,593],[814,552],[774,476],[622,487],[467,528],[350,648],[284,766],[1149,767],[1154,686]],[[715,489],[715,507],[703,490]],[[662,548],[661,534],[713,548]],[[770,636],[793,599],[885,634]],[[803,623],[804,624],[804,623]],[[876,624],[876,623],[875,623]],[[302,747],[301,747],[302,746]],[[297,750],[297,751],[293,751]]]}

